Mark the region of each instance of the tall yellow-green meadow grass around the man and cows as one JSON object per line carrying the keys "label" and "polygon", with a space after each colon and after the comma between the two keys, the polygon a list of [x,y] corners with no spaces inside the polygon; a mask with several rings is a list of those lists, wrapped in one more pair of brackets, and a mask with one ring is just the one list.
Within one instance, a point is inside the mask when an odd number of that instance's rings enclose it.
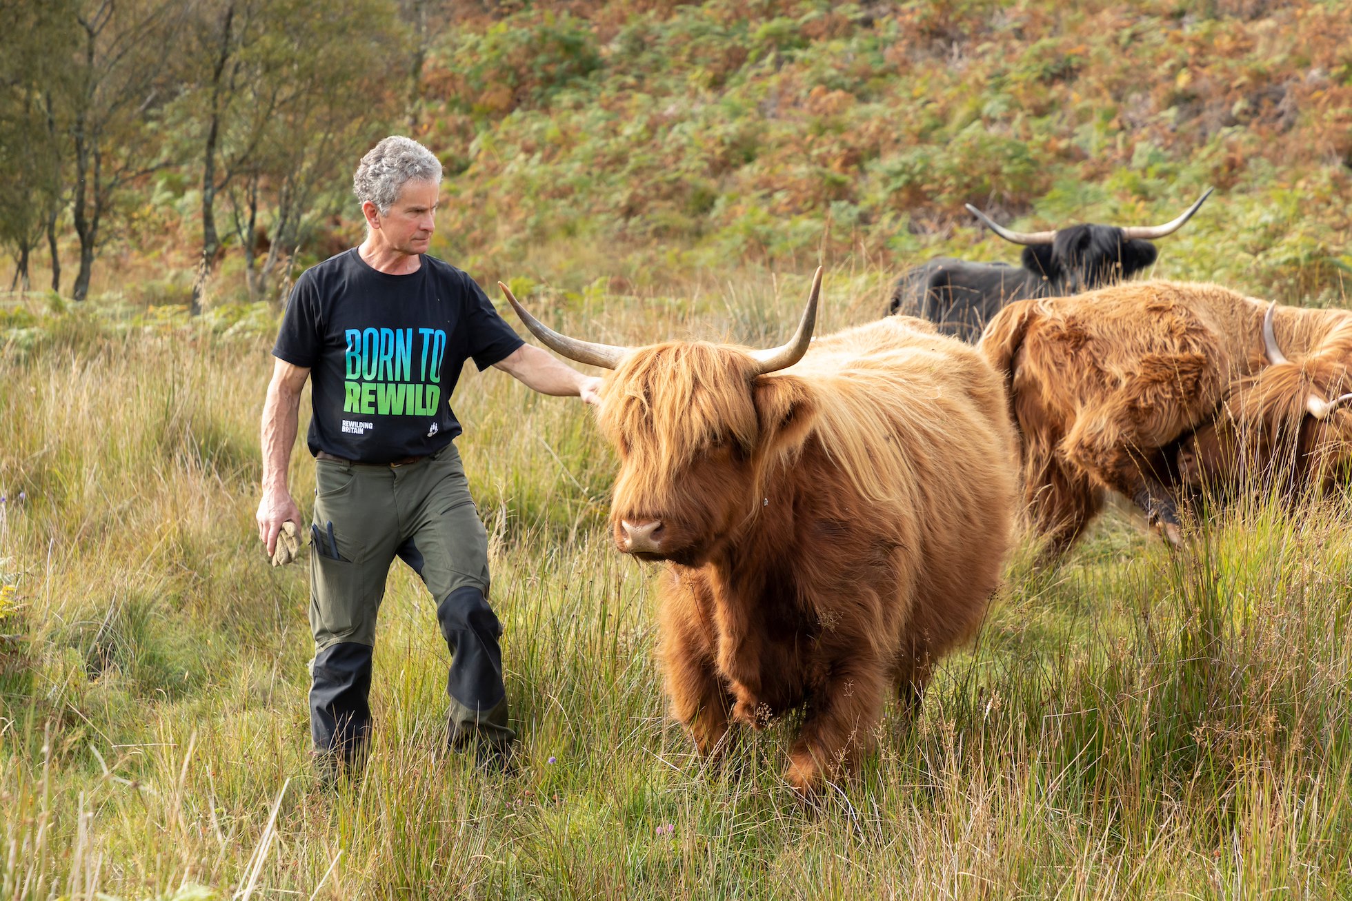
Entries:
{"label": "tall yellow-green meadow grass around the man and cows", "polygon": [[[772,342],[806,280],[530,303],[600,340]],[[825,328],[882,284],[829,280]],[[1119,512],[1055,567],[1025,542],[921,716],[888,711],[863,773],[803,805],[790,723],[711,766],[665,719],[660,570],[610,546],[585,409],[472,367],[453,403],[521,771],[443,751],[448,654],[396,565],[370,761],[322,790],[306,566],[268,566],[253,524],[268,346],[66,313],[0,357],[4,901],[1352,893],[1343,498],[1233,505],[1182,552]],[[303,450],[291,477],[308,511]]]}

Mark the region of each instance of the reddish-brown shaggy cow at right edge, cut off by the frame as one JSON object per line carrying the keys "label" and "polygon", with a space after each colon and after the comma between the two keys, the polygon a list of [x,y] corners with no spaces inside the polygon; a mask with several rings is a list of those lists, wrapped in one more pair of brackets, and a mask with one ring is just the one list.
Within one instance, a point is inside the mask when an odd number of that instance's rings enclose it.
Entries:
{"label": "reddish-brown shaggy cow at right edge, cut off by the frame", "polygon": [[1025,500],[1052,551],[1080,535],[1105,489],[1178,542],[1179,478],[1224,481],[1245,459],[1252,470],[1297,454],[1305,478],[1324,478],[1347,455],[1334,412],[1348,400],[1348,311],[1275,307],[1220,285],[1124,284],[1010,304],[979,349],[1005,376]]}

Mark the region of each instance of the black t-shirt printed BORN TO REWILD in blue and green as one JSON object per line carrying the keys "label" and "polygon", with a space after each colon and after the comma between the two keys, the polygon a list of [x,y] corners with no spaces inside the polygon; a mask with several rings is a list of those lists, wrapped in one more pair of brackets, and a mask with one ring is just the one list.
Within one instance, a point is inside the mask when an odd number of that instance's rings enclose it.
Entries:
{"label": "black t-shirt printed BORN TO REWILD in blue and green", "polygon": [[525,343],[473,278],[419,259],[391,276],[353,249],[296,281],[272,353],[310,369],[311,454],[388,463],[435,453],[461,431],[450,393],[465,361],[487,369]]}

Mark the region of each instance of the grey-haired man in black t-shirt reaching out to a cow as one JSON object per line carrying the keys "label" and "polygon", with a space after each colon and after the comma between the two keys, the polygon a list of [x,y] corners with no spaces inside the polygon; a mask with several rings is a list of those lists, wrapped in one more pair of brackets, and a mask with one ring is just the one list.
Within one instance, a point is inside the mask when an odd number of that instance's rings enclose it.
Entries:
{"label": "grey-haired man in black t-shirt reaching out to a cow", "polygon": [[368,740],[376,612],[395,557],[438,602],[453,655],[448,742],[506,762],[515,736],[502,627],[488,604],[487,535],[453,443],[461,430],[449,400],[466,359],[587,403],[596,403],[600,384],[523,343],[469,276],[427,255],[439,182],[437,157],[408,138],[385,138],[362,157],[353,190],[366,239],[300,277],[273,349],[258,536],[272,555],[283,525],[301,521],[287,466],[300,390],[312,377],[310,723],[330,778],[358,765]]}

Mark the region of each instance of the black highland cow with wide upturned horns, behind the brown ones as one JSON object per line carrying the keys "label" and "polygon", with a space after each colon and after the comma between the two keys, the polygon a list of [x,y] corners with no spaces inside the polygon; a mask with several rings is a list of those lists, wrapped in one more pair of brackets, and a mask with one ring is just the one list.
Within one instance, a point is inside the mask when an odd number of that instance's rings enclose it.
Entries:
{"label": "black highland cow with wide upturned horns, behind the brown ones", "polygon": [[1005,240],[1023,244],[1022,265],[973,263],[936,257],[907,270],[892,288],[888,313],[919,316],[945,335],[976,342],[1006,304],[1032,297],[1059,297],[1126,281],[1155,262],[1152,240],[1171,235],[1192,217],[1211,195],[1163,226],[1096,226],[1084,223],[1056,231],[1011,231],[967,204],[967,209]]}

